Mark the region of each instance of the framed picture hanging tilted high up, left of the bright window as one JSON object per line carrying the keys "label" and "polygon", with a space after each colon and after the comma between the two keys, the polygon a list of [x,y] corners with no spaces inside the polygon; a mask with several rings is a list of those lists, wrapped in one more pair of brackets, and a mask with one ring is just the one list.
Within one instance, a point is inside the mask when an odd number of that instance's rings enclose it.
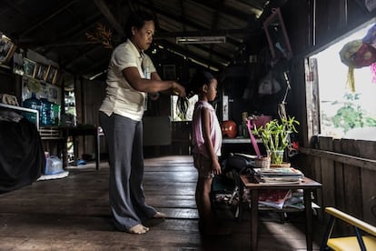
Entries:
{"label": "framed picture hanging tilted high up, left of the bright window", "polygon": [[280,8],[272,9],[272,15],[263,22],[263,29],[268,39],[272,59],[292,58],[292,48],[283,23]]}

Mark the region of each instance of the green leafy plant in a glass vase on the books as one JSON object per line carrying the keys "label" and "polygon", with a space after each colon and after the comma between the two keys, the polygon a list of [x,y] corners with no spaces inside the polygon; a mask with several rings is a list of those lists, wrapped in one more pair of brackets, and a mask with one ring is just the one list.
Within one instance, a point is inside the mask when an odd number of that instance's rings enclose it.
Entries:
{"label": "green leafy plant in a glass vase on the books", "polygon": [[254,126],[252,134],[259,137],[265,146],[271,164],[282,164],[284,149],[290,144],[290,135],[297,133],[295,126],[300,125],[295,117],[273,119],[264,126]]}

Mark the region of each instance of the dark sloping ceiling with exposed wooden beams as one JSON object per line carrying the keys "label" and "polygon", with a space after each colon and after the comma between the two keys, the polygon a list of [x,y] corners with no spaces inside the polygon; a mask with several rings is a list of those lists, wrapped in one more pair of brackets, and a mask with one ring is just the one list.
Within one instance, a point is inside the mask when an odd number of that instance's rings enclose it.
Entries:
{"label": "dark sloping ceiling with exposed wooden beams", "polygon": [[[262,33],[262,20],[282,0],[4,0],[0,32],[24,53],[32,50],[56,62],[72,75],[93,79],[103,75],[111,48],[98,38],[98,25],[111,35],[111,45],[123,38],[130,12],[154,15],[152,50],[181,56],[214,71],[235,64],[252,35]],[[89,36],[92,36],[90,38]],[[178,45],[176,36],[225,36],[223,44]],[[94,37],[94,39],[93,39]]]}

